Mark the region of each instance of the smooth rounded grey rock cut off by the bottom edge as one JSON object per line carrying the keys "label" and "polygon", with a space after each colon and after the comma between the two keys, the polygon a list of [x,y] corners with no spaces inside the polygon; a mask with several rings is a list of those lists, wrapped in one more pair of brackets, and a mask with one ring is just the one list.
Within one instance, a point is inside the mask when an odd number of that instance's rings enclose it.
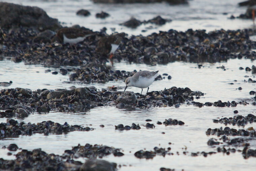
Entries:
{"label": "smooth rounded grey rock cut off by the bottom edge", "polygon": [[116,163],[99,159],[89,159],[79,168],[79,171],[115,171],[116,168]]}

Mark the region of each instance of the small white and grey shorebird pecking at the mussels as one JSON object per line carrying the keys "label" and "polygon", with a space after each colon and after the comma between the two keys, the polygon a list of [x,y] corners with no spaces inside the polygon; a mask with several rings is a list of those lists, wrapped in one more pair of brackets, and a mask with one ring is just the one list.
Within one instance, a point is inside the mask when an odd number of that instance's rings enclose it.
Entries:
{"label": "small white and grey shorebird pecking at the mussels", "polygon": [[[158,71],[136,72],[133,76],[125,79],[126,87],[124,89],[124,92],[127,89],[127,87],[141,88],[141,93],[143,91],[143,88],[148,88],[148,91],[149,91],[149,86],[154,82],[155,78],[157,77],[157,73],[158,73]],[[148,93],[148,91],[147,91],[147,93]]]}

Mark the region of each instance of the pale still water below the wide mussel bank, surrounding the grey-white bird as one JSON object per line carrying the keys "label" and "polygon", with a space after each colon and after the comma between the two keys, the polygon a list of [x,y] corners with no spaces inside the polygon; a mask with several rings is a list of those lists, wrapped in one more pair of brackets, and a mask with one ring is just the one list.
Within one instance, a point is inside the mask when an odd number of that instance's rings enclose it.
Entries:
{"label": "pale still water below the wide mussel bank, surrounding the grey-white bird", "polygon": [[[52,75],[51,73],[44,73],[44,68],[40,65],[24,65],[23,63],[12,63],[10,61],[1,61],[2,67],[0,67],[1,79],[13,81],[13,84],[8,88],[25,87],[35,90],[37,88],[68,88],[71,85],[76,87],[88,86],[88,84],[70,84],[65,83],[68,76],[61,74]],[[203,67],[199,69],[197,64],[174,62],[167,65],[150,66],[146,64],[129,64],[127,62],[115,63],[113,69],[132,71],[134,69],[141,70],[159,70],[159,74],[168,73],[172,76],[171,80],[167,78],[159,81],[155,81],[150,86],[150,91],[159,91],[164,88],[176,87],[189,87],[191,90],[201,91],[205,93],[200,99],[195,99],[198,102],[215,102],[217,100],[222,101],[241,101],[246,100],[251,103],[253,95],[249,95],[249,92],[254,90],[256,83],[244,82],[248,78],[255,80],[255,75],[245,70],[239,70],[239,67],[250,67],[255,65],[255,62],[251,60],[239,60],[232,59],[227,62],[209,64],[202,63]],[[226,71],[217,69],[216,67],[224,65]],[[5,68],[4,68],[5,67]],[[22,68],[19,70],[8,71],[8,68]],[[54,68],[50,68],[54,70]],[[36,73],[39,71],[39,73]],[[21,74],[22,72],[22,74]],[[32,74],[31,74],[32,72]],[[34,76],[33,74],[40,74]],[[21,76],[26,76],[25,83],[19,82]],[[245,76],[249,76],[245,78]],[[47,81],[41,79],[47,78]],[[233,80],[237,80],[236,82]],[[49,82],[50,85],[46,85]],[[228,83],[233,82],[233,85]],[[27,84],[30,83],[30,84]],[[123,80],[118,82],[107,82],[105,84],[90,84],[94,85],[97,89],[106,88],[107,86],[120,86],[124,88]],[[236,88],[242,87],[241,91]],[[1,87],[2,89],[3,87]],[[122,89],[123,90],[123,89]],[[138,88],[129,88],[129,91],[140,92]],[[146,90],[144,90],[146,93]],[[251,170],[255,167],[255,158],[243,159],[242,154],[239,152],[231,153],[229,156],[222,153],[213,154],[204,158],[203,156],[191,157],[183,155],[183,149],[187,147],[189,154],[197,151],[215,151],[216,148],[207,146],[207,141],[217,136],[207,136],[205,131],[208,128],[220,128],[225,127],[222,124],[213,123],[212,119],[218,117],[231,117],[233,111],[238,110],[241,115],[247,115],[249,113],[255,114],[255,106],[249,105],[237,105],[237,107],[208,107],[202,108],[194,107],[193,105],[182,104],[180,108],[166,107],[166,108],[151,108],[151,109],[118,109],[115,107],[100,107],[94,108],[86,112],[75,113],[62,113],[62,112],[50,112],[46,114],[34,113],[23,120],[24,122],[37,123],[42,121],[51,120],[53,122],[59,122],[63,124],[68,122],[70,125],[78,124],[82,126],[89,126],[92,124],[92,128],[96,128],[94,131],[89,132],[71,132],[66,135],[49,135],[44,136],[42,134],[35,134],[32,136],[20,136],[19,138],[5,139],[1,141],[1,145],[9,145],[10,143],[16,143],[23,149],[42,148],[42,150],[49,153],[62,154],[64,150],[71,149],[71,146],[80,144],[103,144],[108,146],[114,146],[115,148],[122,148],[125,156],[114,157],[110,155],[104,157],[111,162],[116,162],[121,165],[127,165],[127,167],[121,167],[120,170],[159,170],[160,167],[175,168],[176,170]],[[163,122],[166,118],[175,118],[185,122],[184,126],[164,126],[156,125],[157,121]],[[146,129],[141,126],[140,130],[130,131],[116,131],[115,125],[124,124],[131,125],[136,123],[139,125],[146,125],[146,119],[152,119],[155,129]],[[6,122],[6,118],[0,118],[0,122]],[[100,128],[99,125],[105,125],[104,128]],[[246,125],[244,129],[248,127],[256,127],[256,124]],[[241,129],[237,126],[229,126],[230,128]],[[165,132],[165,134],[161,134]],[[172,144],[169,145],[168,142]],[[49,144],[51,144],[49,146]],[[160,144],[160,145],[159,145]],[[251,148],[256,147],[255,141],[250,141]],[[152,160],[137,159],[134,157],[134,153],[140,149],[146,148],[147,150],[153,150],[155,146],[158,147],[171,147],[173,156],[157,156]],[[238,147],[242,149],[242,147]],[[130,152],[131,151],[131,152]],[[178,156],[176,152],[179,152]],[[13,158],[13,156],[6,156],[6,150],[0,150],[1,156],[4,158]],[[85,159],[80,159],[84,161]],[[203,162],[202,162],[203,161]],[[196,163],[196,164],[195,164]],[[216,166],[216,163],[218,165]],[[132,165],[132,166],[129,166]],[[246,168],[245,168],[246,166]],[[217,168],[216,168],[217,167]]]}

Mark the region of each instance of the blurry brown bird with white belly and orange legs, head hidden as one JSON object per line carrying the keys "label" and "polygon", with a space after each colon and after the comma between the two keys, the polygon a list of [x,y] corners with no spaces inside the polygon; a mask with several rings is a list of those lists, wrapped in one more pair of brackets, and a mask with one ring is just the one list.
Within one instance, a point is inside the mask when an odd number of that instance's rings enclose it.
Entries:
{"label": "blurry brown bird with white belly and orange legs, head hidden", "polygon": [[110,36],[102,37],[98,41],[96,52],[101,55],[109,55],[109,59],[111,60],[124,36],[125,33],[116,33]]}

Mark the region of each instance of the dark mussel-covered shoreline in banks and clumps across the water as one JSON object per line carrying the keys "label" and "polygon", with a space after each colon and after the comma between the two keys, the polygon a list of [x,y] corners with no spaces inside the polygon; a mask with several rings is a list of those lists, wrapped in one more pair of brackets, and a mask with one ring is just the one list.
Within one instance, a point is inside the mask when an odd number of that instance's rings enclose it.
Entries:
{"label": "dark mussel-covered shoreline in banks and clumps across the water", "polygon": [[[123,1],[104,1],[94,0],[99,3],[123,3]],[[133,0],[125,1],[131,3]],[[143,2],[152,2],[143,1]],[[155,2],[155,1],[154,1]],[[178,1],[167,1],[169,3],[178,3]],[[186,0],[179,1],[187,3]],[[10,13],[11,9],[17,10],[13,16],[5,15]],[[19,9],[17,9],[19,8]],[[1,10],[2,9],[2,10]],[[26,12],[26,11],[30,11]],[[89,11],[82,11],[83,15],[90,15]],[[76,44],[69,44],[54,41],[53,37],[56,32],[62,28],[58,20],[50,18],[42,9],[37,7],[20,6],[9,3],[0,2],[0,60],[8,59],[13,62],[23,61],[25,64],[41,64],[60,68],[60,74],[67,75],[69,81],[79,81],[83,83],[102,83],[107,81],[125,80],[137,71],[112,70],[106,65],[109,61],[108,53],[103,52],[99,48],[99,42],[102,42],[109,35],[105,29],[95,32],[90,29],[73,26],[84,32],[88,32],[85,39]],[[3,18],[6,16],[6,20]],[[98,17],[107,17],[107,13],[99,13]],[[7,20],[8,19],[8,20]],[[29,22],[30,20],[34,23]],[[36,22],[38,20],[38,22]],[[13,22],[12,25],[8,22]],[[15,21],[19,21],[16,22]],[[49,21],[49,25],[45,24]],[[144,23],[164,24],[170,20],[162,19],[160,16]],[[132,18],[128,22],[123,23],[127,27],[135,28],[139,26],[141,21]],[[169,31],[152,33],[148,36],[128,36],[120,33],[121,43],[114,54],[114,64],[122,60],[130,63],[146,63],[146,64],[167,64],[169,62],[209,62],[216,63],[227,61],[229,59],[250,59],[256,60],[256,53],[252,49],[256,48],[256,42],[250,40],[249,36],[254,35],[253,29],[243,30],[216,30],[206,32],[205,30],[189,29],[185,32],[170,29]],[[117,36],[113,34],[112,36]],[[103,44],[105,42],[103,41]],[[99,50],[96,50],[99,49]],[[68,68],[67,66],[76,66],[77,68]],[[200,68],[200,64],[198,68]],[[220,67],[225,70],[225,67]],[[239,70],[244,68],[240,67]],[[252,74],[256,73],[256,67],[246,67],[246,71]],[[51,70],[45,70],[51,72]],[[58,74],[57,71],[52,74]],[[168,74],[158,75],[156,81],[162,79],[171,79]],[[255,83],[255,80],[249,78],[248,83]],[[11,84],[11,82],[1,82],[3,85]],[[231,83],[230,83],[231,84]],[[242,90],[239,87],[238,90]],[[256,94],[254,90],[249,95]],[[117,87],[108,87],[106,89],[97,90],[95,87],[71,87],[67,89],[37,89],[29,90],[26,88],[6,88],[0,90],[0,118],[7,118],[6,123],[0,123],[0,139],[17,138],[22,135],[32,136],[34,134],[43,134],[45,136],[51,134],[67,134],[72,131],[94,131],[95,128],[83,127],[79,124],[69,125],[54,123],[52,121],[43,121],[41,123],[25,123],[23,121],[15,121],[13,118],[22,119],[28,117],[34,112],[49,113],[50,111],[87,111],[95,107],[114,106],[120,109],[151,109],[154,107],[175,107],[180,105],[193,105],[195,107],[212,106],[212,107],[236,107],[238,105],[256,105],[256,96],[250,99],[236,101],[216,102],[196,102],[204,96],[200,91],[192,91],[190,88],[169,87],[161,91],[151,91],[145,95],[133,92],[118,91]],[[220,109],[220,108],[219,108]],[[237,109],[238,110],[238,109]],[[237,114],[238,111],[234,113]],[[11,119],[9,119],[11,118]],[[157,127],[179,127],[184,128],[187,124],[179,118],[168,118],[164,121],[154,121],[147,119],[145,125],[132,123],[131,125],[118,124],[113,126],[113,130],[124,133],[128,130],[157,130]],[[204,156],[223,152],[225,155],[230,153],[241,152],[245,159],[256,157],[256,150],[250,148],[250,142],[255,141],[256,132],[253,127],[245,129],[245,125],[256,122],[254,114],[247,116],[234,115],[232,117],[223,117],[213,119],[214,123],[224,124],[226,127],[209,128],[205,134],[210,139],[205,142],[208,146],[214,147],[215,151],[210,152],[190,152],[191,157]],[[120,121],[122,123],[122,121]],[[105,124],[105,123],[104,123]],[[233,129],[227,127],[238,126],[243,129]],[[104,125],[100,125],[103,129]],[[141,129],[142,128],[142,129]],[[130,131],[129,131],[130,132]],[[165,134],[162,132],[161,134]],[[239,137],[234,137],[239,136]],[[170,145],[171,143],[169,143]],[[243,149],[238,149],[238,148]],[[18,150],[16,144],[10,144],[7,148],[9,151]],[[0,169],[3,170],[63,170],[63,171],[88,171],[94,167],[94,170],[115,171],[116,163],[109,163],[96,158],[103,158],[108,155],[121,157],[125,152],[120,148],[109,147],[98,144],[85,144],[72,147],[64,151],[63,155],[47,154],[39,149],[26,150],[20,149],[15,156],[15,160],[0,159]],[[153,150],[136,149],[134,156],[138,159],[153,159],[156,156],[180,155],[180,153],[172,152],[171,147],[155,147]],[[124,152],[124,153],[123,153]],[[183,155],[189,152],[185,149]],[[8,155],[12,155],[11,152]],[[87,158],[83,164],[75,161],[78,158]],[[121,167],[121,165],[119,166]],[[160,168],[166,171],[171,169]],[[173,169],[174,170],[174,169]]]}

